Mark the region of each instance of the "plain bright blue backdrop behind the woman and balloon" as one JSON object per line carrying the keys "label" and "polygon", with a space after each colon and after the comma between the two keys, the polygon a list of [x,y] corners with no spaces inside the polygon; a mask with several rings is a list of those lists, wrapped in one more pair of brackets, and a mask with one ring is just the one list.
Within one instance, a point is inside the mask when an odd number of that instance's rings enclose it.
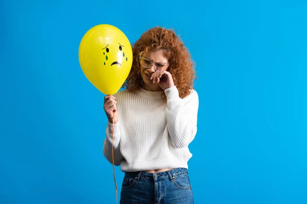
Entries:
{"label": "plain bright blue backdrop behind the woman and balloon", "polygon": [[[2,1],[0,203],[115,203],[103,97],[78,48],[157,25],[196,62],[195,203],[307,203],[306,1]],[[116,167],[120,189],[123,173]],[[120,192],[119,192],[120,193]]]}

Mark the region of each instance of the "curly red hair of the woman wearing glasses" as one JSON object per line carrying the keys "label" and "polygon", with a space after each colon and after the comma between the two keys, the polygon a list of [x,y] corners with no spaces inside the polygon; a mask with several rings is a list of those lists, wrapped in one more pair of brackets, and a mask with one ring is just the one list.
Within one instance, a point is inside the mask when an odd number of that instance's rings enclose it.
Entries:
{"label": "curly red hair of the woman wearing glasses", "polygon": [[143,52],[164,49],[164,57],[168,59],[168,70],[181,98],[190,94],[193,81],[196,79],[195,65],[188,49],[179,36],[171,29],[152,28],[143,33],[133,45],[133,63],[127,80],[123,84],[126,90],[135,92],[142,87],[139,56]]}

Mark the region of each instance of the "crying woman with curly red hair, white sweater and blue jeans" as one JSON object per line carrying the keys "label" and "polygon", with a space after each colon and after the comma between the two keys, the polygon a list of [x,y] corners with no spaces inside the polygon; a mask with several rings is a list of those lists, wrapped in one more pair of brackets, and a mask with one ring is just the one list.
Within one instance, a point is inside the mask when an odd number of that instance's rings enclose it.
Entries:
{"label": "crying woman with curly red hair, white sweater and blue jeans", "polygon": [[[120,203],[193,203],[187,162],[199,107],[194,66],[172,31],[153,28],[133,46],[126,90],[105,96],[103,154],[125,172]],[[113,121],[114,120],[114,121]]]}

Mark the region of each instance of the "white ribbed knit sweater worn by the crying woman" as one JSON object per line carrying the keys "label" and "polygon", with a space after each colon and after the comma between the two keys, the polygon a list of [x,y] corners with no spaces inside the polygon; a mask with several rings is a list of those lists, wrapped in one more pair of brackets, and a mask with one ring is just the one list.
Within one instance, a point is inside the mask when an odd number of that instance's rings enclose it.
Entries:
{"label": "white ribbed knit sweater worn by the crying woman", "polygon": [[[114,164],[124,172],[188,168],[188,144],[197,131],[199,98],[195,90],[179,97],[176,86],[164,91],[119,91],[119,120],[114,125]],[[107,122],[103,155],[112,163],[112,124]]]}

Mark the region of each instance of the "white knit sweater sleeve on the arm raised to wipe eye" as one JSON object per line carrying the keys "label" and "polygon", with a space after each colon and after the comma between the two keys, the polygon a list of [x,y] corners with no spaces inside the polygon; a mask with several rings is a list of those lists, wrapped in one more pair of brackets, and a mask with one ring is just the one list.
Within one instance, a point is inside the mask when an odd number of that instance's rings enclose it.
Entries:
{"label": "white knit sweater sleeve on the arm raised to wipe eye", "polygon": [[184,99],[176,86],[165,90],[167,97],[166,119],[171,143],[177,148],[189,145],[197,131],[199,97],[195,90]]}

